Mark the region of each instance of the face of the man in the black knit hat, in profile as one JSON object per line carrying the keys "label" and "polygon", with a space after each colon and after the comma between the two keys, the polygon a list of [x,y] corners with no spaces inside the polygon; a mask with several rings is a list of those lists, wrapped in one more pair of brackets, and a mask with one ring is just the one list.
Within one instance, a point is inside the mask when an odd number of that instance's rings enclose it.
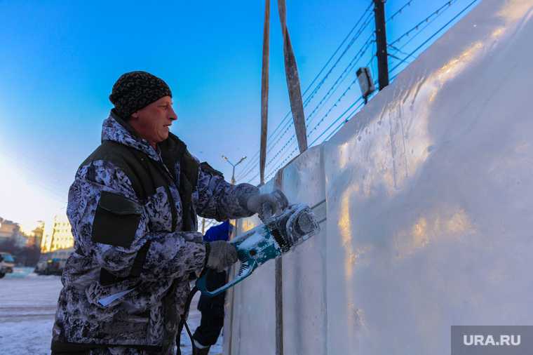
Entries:
{"label": "face of the man in the black knit hat, in profile", "polygon": [[147,107],[134,112],[129,123],[139,133],[141,138],[155,146],[168,138],[172,121],[177,119],[177,114],[172,107],[172,98],[163,96]]}

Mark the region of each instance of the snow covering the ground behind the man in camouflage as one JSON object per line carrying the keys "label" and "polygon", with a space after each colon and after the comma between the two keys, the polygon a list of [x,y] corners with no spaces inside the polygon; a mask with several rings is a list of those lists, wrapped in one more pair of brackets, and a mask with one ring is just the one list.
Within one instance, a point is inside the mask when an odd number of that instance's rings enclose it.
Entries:
{"label": "snow covering the ground behind the man in camouflage", "polygon": [[[50,354],[55,307],[61,290],[59,276],[37,276],[31,268],[15,268],[13,274],[0,279],[0,354]],[[191,304],[189,327],[200,324],[196,309],[198,294]],[[181,337],[182,354],[191,354],[189,335]],[[222,337],[209,354],[222,354]]]}

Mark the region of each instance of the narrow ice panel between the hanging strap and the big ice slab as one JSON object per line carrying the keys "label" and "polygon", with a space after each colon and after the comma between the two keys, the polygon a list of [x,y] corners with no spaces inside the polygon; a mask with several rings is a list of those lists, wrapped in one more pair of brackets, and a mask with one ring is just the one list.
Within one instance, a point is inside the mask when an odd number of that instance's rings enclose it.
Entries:
{"label": "narrow ice panel between the hanging strap and the big ice slab", "polygon": [[[282,190],[292,203],[325,204],[322,147],[283,170]],[[283,354],[325,355],[325,222],[320,234],[283,255]]]}

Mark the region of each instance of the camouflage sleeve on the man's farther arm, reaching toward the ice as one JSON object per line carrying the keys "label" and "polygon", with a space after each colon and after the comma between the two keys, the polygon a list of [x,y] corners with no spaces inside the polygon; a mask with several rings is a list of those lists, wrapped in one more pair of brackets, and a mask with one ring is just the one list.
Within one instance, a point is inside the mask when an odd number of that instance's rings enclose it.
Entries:
{"label": "camouflage sleeve on the man's farther arm, reaching toward the ice", "polygon": [[231,185],[222,173],[201,163],[198,168],[198,182],[192,195],[196,213],[201,217],[227,220],[249,217],[253,213],[246,208],[246,201],[259,189],[250,184]]}

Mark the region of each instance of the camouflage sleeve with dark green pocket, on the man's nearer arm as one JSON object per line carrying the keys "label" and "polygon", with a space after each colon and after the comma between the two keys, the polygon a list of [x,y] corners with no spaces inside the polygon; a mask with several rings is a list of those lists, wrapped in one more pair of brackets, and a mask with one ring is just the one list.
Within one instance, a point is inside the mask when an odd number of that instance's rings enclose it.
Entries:
{"label": "camouflage sleeve with dark green pocket, on the man's nearer arm", "polygon": [[127,175],[108,161],[93,161],[78,170],[69,189],[67,215],[76,248],[115,276],[130,275],[140,252],[146,257],[137,265],[138,276],[147,281],[188,279],[204,267],[205,246],[193,242],[201,240],[201,234],[150,232],[146,207]]}

